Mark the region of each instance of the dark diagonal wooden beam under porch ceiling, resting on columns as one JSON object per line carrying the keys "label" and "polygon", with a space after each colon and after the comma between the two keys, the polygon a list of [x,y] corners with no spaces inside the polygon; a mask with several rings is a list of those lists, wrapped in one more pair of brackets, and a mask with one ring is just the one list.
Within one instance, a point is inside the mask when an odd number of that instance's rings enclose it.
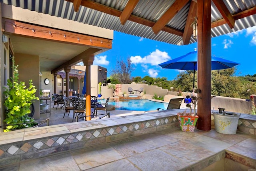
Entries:
{"label": "dark diagonal wooden beam under porch ceiling, resting on columns", "polygon": [[77,56],[75,56],[74,58],[72,58],[71,60],[65,62],[64,64],[62,64],[61,66],[58,66],[57,68],[55,68],[54,70],[52,70],[52,74],[53,73],[57,73],[61,70],[63,70],[65,67],[67,66],[73,66],[74,64],[77,64],[79,62],[82,62],[83,58],[89,58],[90,55],[95,54],[96,52],[100,51],[100,49],[97,48],[89,48],[87,50],[85,50],[84,52],[78,54]]}

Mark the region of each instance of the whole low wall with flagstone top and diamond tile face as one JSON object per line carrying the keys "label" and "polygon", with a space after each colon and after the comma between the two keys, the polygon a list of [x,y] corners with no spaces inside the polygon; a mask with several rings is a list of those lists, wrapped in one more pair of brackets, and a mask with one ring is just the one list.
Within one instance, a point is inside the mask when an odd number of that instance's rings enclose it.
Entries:
{"label": "whole low wall with flagstone top and diamond tile face", "polygon": [[[180,111],[183,109],[0,133],[0,165],[179,127],[176,113]],[[241,114],[238,131],[256,135],[256,116]]]}

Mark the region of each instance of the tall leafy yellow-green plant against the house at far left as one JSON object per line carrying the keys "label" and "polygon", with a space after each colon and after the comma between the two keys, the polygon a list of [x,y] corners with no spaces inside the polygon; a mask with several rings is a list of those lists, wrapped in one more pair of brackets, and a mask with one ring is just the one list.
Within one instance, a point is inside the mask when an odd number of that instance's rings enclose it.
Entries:
{"label": "tall leafy yellow-green plant against the house at far left", "polygon": [[[18,66],[14,65],[13,60],[13,70],[14,77],[7,80],[8,87],[4,87],[5,101],[4,105],[6,107],[6,117],[4,122],[6,123],[6,129],[4,132],[20,129],[26,127],[32,127],[35,125],[34,119],[28,116],[30,113],[30,105],[33,100],[39,100],[36,97],[36,87],[33,85],[32,80],[29,80],[29,87],[26,88],[24,82],[20,82],[18,79]],[[36,123],[37,124],[37,123]]]}

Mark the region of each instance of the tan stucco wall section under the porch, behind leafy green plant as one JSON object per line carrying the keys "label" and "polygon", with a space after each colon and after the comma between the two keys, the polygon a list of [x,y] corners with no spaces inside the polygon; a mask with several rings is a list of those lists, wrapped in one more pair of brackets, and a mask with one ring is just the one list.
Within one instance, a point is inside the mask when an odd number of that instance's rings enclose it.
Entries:
{"label": "tan stucco wall section under the porch, behind leafy green plant", "polygon": [[[29,86],[28,81],[32,80],[33,85],[36,86],[36,96],[39,97],[40,91],[40,76],[39,76],[39,56],[28,54],[15,54],[15,64],[18,66],[19,80],[26,83],[26,87]],[[40,101],[33,102],[35,113],[34,118],[40,119]]]}

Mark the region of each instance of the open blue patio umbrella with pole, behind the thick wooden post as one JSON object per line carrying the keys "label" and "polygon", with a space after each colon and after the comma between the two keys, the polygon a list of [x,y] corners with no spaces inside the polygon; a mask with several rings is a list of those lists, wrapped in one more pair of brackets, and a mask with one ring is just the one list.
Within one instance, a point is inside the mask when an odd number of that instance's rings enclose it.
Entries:
{"label": "open blue patio umbrella with pole, behind the thick wooden post", "polygon": [[[169,60],[162,64],[158,64],[162,68],[177,69],[177,70],[194,70],[193,78],[193,91],[195,85],[195,70],[197,70],[197,51],[189,52],[186,55],[180,56],[173,60]],[[239,65],[236,62],[217,58],[212,56],[212,70],[223,70],[232,68],[233,66]]]}

